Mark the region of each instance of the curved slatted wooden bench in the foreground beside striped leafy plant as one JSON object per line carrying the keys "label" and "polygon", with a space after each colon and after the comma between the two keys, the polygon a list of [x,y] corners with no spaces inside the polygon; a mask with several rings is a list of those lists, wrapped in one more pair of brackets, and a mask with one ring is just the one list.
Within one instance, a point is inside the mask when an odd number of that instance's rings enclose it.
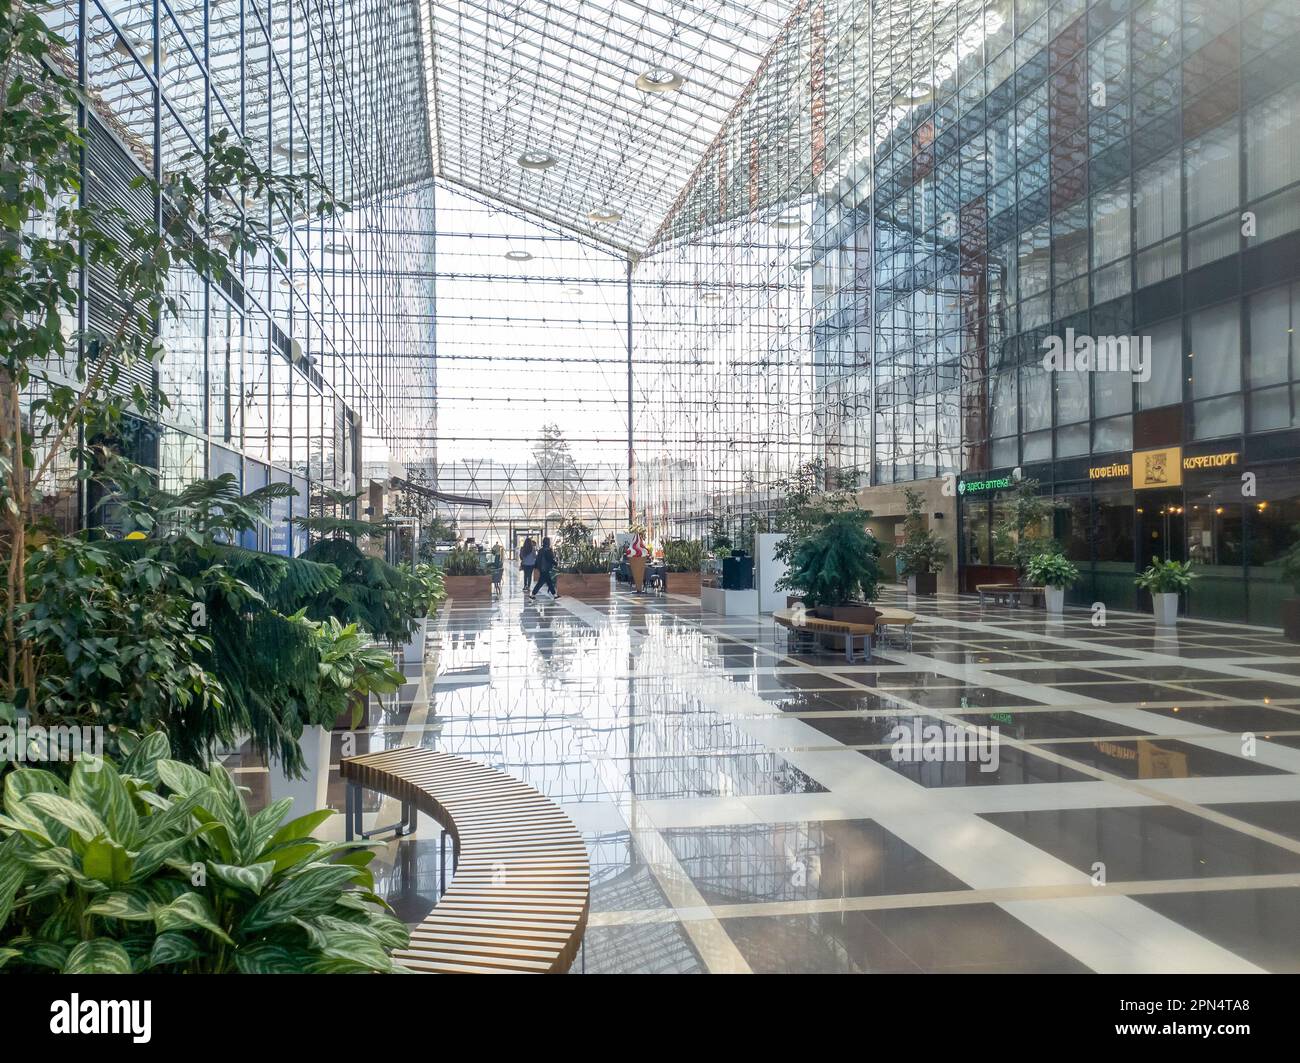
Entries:
{"label": "curved slatted wooden bench in the foreground beside striped leafy plant", "polygon": [[[592,868],[573,821],[532,786],[462,756],[399,746],[344,759],[352,786],[436,819],[455,842],[455,873],[394,959],[417,973],[563,973],[586,929]],[[399,826],[400,833],[400,826]]]}

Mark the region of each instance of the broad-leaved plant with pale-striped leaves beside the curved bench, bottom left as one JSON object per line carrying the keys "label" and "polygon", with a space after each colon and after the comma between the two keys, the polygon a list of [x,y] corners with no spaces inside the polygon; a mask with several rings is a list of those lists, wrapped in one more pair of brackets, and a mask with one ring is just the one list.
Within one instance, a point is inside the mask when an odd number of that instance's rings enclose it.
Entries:
{"label": "broad-leaved plant with pale-striped leaves beside the curved bench, bottom left", "polygon": [[70,781],[21,768],[0,813],[0,966],[64,973],[391,972],[410,936],[330,815],[248,812],[230,775],[151,734]]}

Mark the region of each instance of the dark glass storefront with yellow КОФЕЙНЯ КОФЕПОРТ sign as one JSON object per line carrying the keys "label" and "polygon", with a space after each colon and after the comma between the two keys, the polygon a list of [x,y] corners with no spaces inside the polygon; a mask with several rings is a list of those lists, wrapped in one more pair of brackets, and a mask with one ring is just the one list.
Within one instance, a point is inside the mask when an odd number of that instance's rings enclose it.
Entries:
{"label": "dark glass storefront with yellow \u041a\u041e\u0424\u0415\u0419\u041d\u042f \u041a\u041e\u0424\u0415\u041f\u041e\u0420\u0422 sign", "polygon": [[959,586],[1014,578],[996,529],[1019,478],[1060,503],[1052,534],[1080,572],[1067,602],[1148,611],[1134,577],[1153,560],[1191,560],[1188,616],[1280,626],[1296,596],[1280,559],[1300,529],[1300,472],[1290,455],[1219,446],[1093,455],[958,481]]}

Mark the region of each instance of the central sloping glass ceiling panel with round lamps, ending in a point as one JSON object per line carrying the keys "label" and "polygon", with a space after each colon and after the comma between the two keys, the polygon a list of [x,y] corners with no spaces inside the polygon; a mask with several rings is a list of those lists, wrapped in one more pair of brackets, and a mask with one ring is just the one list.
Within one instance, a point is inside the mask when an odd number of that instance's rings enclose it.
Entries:
{"label": "central sloping glass ceiling panel with round lamps, ending in a point", "polygon": [[641,253],[797,6],[421,0],[438,175]]}

